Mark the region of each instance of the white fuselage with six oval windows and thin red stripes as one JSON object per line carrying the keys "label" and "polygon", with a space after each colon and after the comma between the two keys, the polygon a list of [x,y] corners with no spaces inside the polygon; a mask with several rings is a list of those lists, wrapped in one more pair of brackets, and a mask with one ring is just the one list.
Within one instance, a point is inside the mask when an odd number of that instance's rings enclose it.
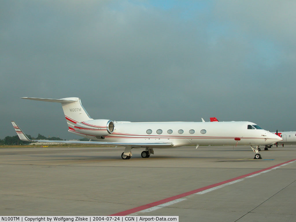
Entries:
{"label": "white fuselage with six oval windows and thin red stripes", "polygon": [[[95,120],[91,120],[95,121]],[[265,145],[278,136],[263,129],[248,129],[251,122],[116,122],[114,131],[102,136],[102,128],[69,128],[69,132],[96,140],[120,142],[172,142],[186,145]],[[106,127],[105,127],[106,128]]]}

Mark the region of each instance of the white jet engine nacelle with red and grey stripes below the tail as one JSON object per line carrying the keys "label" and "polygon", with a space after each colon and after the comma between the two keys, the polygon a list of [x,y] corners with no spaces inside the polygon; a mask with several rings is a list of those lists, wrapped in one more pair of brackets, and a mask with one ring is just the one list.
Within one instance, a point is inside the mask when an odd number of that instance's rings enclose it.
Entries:
{"label": "white jet engine nacelle with red and grey stripes below the tail", "polygon": [[114,131],[114,122],[111,120],[87,120],[74,125],[74,130],[90,136],[104,139]]}

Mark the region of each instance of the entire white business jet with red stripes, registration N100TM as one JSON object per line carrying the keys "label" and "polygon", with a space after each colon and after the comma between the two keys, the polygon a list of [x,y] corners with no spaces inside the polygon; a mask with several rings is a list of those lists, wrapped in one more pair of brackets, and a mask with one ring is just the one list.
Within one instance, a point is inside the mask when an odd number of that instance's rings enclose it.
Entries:
{"label": "entire white business jet with red stripes, registration N100TM", "polygon": [[[259,145],[281,141],[281,137],[261,129],[251,122],[127,122],[111,120],[94,120],[90,118],[77,97],[63,99],[42,99],[23,97],[45,102],[59,102],[65,114],[70,133],[94,141],[52,141],[65,144],[99,144],[124,146],[122,159],[132,156],[132,148],[145,149],[141,157],[154,154],[153,148],[170,148],[194,145],[250,145],[255,152],[254,159],[261,159]],[[12,121],[17,135],[23,141],[30,140],[17,124]],[[250,129],[254,130],[250,130]]]}

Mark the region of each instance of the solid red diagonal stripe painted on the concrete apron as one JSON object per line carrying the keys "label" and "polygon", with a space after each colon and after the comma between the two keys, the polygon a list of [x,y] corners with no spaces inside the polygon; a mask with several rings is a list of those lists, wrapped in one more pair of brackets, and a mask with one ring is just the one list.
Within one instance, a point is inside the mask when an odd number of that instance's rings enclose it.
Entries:
{"label": "solid red diagonal stripe painted on the concrete apron", "polygon": [[289,161],[284,162],[284,163],[279,163],[277,165],[268,167],[268,168],[263,169],[263,170],[258,170],[258,171],[255,171],[255,172],[252,172],[252,173],[248,173],[248,174],[245,174],[245,175],[242,175],[242,176],[238,176],[236,178],[232,178],[232,179],[229,179],[229,180],[226,180],[226,181],[217,183],[217,184],[212,184],[212,185],[209,185],[209,186],[205,186],[205,187],[202,187],[202,188],[199,188],[199,189],[196,189],[196,190],[192,190],[192,191],[189,191],[189,192],[186,192],[186,193],[183,193],[183,194],[178,194],[178,195],[173,196],[173,197],[168,197],[168,198],[165,198],[163,200],[159,200],[159,201],[156,201],[156,202],[153,202],[153,203],[149,203],[149,204],[146,204],[146,205],[135,207],[135,208],[132,208],[132,209],[129,209],[129,210],[125,210],[125,211],[122,211],[122,212],[119,212],[119,213],[115,213],[115,214],[112,214],[112,215],[109,215],[109,216],[125,216],[125,215],[131,214],[131,213],[136,213],[138,211],[145,210],[145,209],[148,209],[150,207],[155,207],[157,205],[164,204],[164,203],[167,203],[167,202],[170,202],[170,201],[173,201],[173,200],[182,198],[182,197],[186,197],[186,196],[189,196],[191,194],[195,194],[197,192],[201,192],[201,191],[204,191],[204,190],[207,190],[207,189],[216,187],[216,186],[220,186],[222,184],[226,184],[226,183],[229,183],[231,181],[235,181],[235,180],[238,180],[238,179],[241,179],[241,178],[245,178],[247,176],[251,176],[251,175],[254,175],[256,173],[263,172],[265,170],[270,170],[272,168],[278,167],[278,166],[283,165],[285,163],[290,163],[290,162],[295,161],[295,160],[296,159],[289,160]]}

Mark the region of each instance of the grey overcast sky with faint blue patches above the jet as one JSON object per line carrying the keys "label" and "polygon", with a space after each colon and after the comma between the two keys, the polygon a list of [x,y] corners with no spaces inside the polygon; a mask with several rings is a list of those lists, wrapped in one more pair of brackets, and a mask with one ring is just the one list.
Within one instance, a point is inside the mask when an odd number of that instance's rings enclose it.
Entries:
{"label": "grey overcast sky with faint blue patches above the jet", "polygon": [[295,131],[296,1],[1,1],[0,139],[93,119],[251,121]]}

